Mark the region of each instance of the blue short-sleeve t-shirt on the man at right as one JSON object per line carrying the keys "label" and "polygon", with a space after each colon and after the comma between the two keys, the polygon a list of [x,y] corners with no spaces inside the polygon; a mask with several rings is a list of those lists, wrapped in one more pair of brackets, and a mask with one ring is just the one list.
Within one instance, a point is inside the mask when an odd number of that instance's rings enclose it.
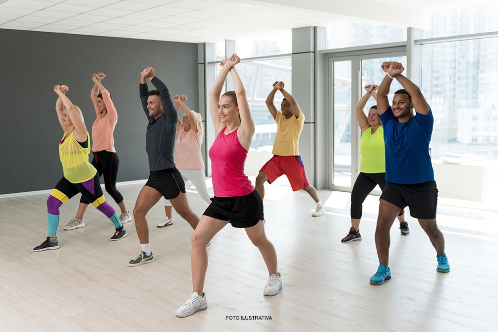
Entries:
{"label": "blue short-sleeve t-shirt on the man at right", "polygon": [[416,113],[400,123],[391,107],[379,114],[384,127],[385,180],[391,183],[417,184],[434,181],[429,143],[434,117]]}

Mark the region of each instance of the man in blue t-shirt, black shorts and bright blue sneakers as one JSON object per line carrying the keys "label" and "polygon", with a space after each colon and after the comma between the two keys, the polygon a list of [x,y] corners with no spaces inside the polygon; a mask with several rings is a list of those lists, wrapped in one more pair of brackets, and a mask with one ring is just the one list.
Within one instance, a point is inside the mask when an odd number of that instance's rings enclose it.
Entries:
{"label": "man in blue t-shirt, black shorts and bright blue sneakers", "polygon": [[[436,249],[438,272],[449,272],[444,251],[444,235],[436,223],[437,187],[429,155],[434,117],[420,89],[401,75],[404,68],[398,62],[384,62],[386,73],[377,91],[377,109],[384,128],[385,188],[380,196],[375,246],[379,266],[370,278],[381,285],[391,278],[389,262],[389,229],[399,212],[406,206],[410,216],[417,218]],[[392,107],[387,95],[393,79],[404,89],[394,93]],[[415,113],[413,112],[415,109]]]}

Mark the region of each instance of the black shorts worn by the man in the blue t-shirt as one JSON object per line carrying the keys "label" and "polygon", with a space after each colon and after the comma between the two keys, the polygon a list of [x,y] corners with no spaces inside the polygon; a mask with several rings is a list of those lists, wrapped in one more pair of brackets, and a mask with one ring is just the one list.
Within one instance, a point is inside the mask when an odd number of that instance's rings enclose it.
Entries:
{"label": "black shorts worn by the man in the blue t-shirt", "polygon": [[405,185],[387,182],[380,199],[400,209],[410,208],[410,216],[417,219],[435,219],[437,209],[436,181]]}

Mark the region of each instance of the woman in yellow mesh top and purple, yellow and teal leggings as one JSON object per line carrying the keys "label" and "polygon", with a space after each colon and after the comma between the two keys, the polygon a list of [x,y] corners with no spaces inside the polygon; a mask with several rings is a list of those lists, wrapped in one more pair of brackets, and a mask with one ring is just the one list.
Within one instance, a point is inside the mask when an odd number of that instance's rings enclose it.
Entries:
{"label": "woman in yellow mesh top and purple, yellow and teal leggings", "polygon": [[81,110],[67,98],[67,91],[69,88],[64,85],[54,87],[54,92],[58,96],[55,110],[64,131],[59,144],[59,158],[64,176],[47,199],[47,239],[34,247],[33,251],[59,248],[56,236],[60,221],[59,208],[78,193],[114,223],[116,231],[111,240],[121,240],[127,235],[118,214],[104,198],[97,169],[88,162],[90,135]]}

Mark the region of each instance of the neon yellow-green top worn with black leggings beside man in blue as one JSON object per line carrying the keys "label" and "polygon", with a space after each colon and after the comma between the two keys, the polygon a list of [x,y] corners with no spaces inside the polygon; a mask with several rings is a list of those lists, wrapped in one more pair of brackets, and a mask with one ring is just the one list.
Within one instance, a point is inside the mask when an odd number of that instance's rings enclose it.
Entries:
{"label": "neon yellow-green top worn with black leggings beside man in blue", "polygon": [[385,173],[384,129],[380,126],[372,134],[366,129],[360,139],[360,172]]}

